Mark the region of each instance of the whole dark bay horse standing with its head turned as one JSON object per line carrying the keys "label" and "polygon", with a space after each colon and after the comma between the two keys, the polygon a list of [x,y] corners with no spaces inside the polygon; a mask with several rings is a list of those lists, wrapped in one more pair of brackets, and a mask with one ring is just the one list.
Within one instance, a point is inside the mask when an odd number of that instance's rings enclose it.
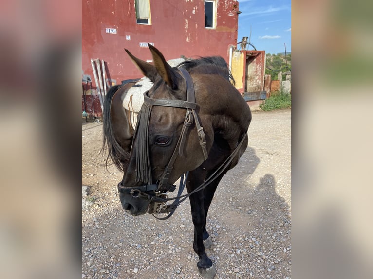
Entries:
{"label": "whole dark bay horse standing with its head turned", "polygon": [[[202,57],[171,67],[155,47],[149,45],[149,49],[153,64],[126,50],[154,84],[144,93],[135,131],[118,102],[131,84],[117,92],[112,88],[105,105],[105,143],[109,156],[124,172],[118,184],[120,201],[132,215],[171,215],[188,197],[197,267],[204,278],[213,278],[216,270],[205,252],[211,245],[206,216],[220,180],[247,147],[251,112],[231,84],[233,78],[222,57]],[[166,192],[173,191],[173,184],[186,173],[188,194],[175,203]],[[170,200],[174,203],[166,206]]]}

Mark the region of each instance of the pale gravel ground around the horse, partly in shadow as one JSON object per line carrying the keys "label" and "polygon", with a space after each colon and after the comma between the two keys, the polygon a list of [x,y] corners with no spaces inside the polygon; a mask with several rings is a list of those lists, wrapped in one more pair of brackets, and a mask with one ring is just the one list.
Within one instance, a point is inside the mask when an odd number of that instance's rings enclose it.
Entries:
{"label": "pale gravel ground around the horse, partly in shadow", "polygon": [[[291,110],[253,112],[248,133],[246,152],[211,204],[207,255],[216,279],[288,279]],[[167,221],[127,214],[116,189],[122,173],[105,169],[101,144],[102,123],[82,122],[82,278],[201,278],[189,202]]]}

